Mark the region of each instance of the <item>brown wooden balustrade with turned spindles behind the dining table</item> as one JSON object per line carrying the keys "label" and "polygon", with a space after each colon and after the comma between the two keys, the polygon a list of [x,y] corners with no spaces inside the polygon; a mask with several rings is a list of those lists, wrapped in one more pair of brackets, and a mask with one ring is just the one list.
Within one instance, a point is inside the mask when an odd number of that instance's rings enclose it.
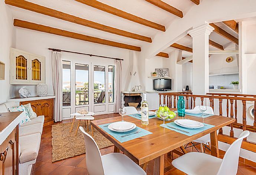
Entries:
{"label": "brown wooden balustrade with turned spindles behind the dining table", "polygon": [[[226,142],[226,143],[232,143],[234,139],[234,128],[236,129],[242,129],[243,131],[247,130],[250,132],[256,132],[256,95],[248,95],[248,94],[229,94],[229,93],[207,93],[206,95],[193,95],[192,93],[181,93],[181,92],[171,92],[171,93],[159,93],[159,98],[160,98],[160,105],[161,105],[161,97],[164,96],[164,101],[165,101],[165,96],[167,96],[168,100],[168,107],[169,108],[176,108],[177,106],[177,99],[178,96],[184,96],[184,99],[186,100],[185,102],[185,107],[186,109],[190,109],[188,104],[189,104],[189,99],[191,99],[190,107],[193,109],[197,105],[206,105],[207,104],[207,99],[209,99],[209,105],[211,108],[214,109],[214,99],[217,99],[219,101],[219,115],[223,116],[223,108],[226,107],[226,117],[230,118],[235,118],[236,122],[232,123],[231,125],[228,125],[230,127],[230,132],[229,135],[225,135],[223,133],[223,129],[219,129],[219,135],[220,135],[220,141]],[[198,99],[198,100],[197,100]],[[172,101],[173,100],[173,101]],[[225,107],[223,106],[223,100],[226,100]],[[238,123],[237,121],[237,101],[242,102],[242,116],[239,116],[240,119],[242,119],[242,123]],[[252,101],[254,104],[253,108],[253,125],[247,125],[247,112],[246,112],[246,102],[247,101]],[[165,104],[165,102],[164,102]],[[241,103],[239,103],[240,105]],[[239,108],[240,109],[240,108]],[[239,113],[240,115],[241,113]],[[241,121],[241,120],[240,120]],[[246,142],[242,146],[242,148],[247,149],[249,151],[256,152],[256,142],[249,142],[244,139],[244,142]]]}

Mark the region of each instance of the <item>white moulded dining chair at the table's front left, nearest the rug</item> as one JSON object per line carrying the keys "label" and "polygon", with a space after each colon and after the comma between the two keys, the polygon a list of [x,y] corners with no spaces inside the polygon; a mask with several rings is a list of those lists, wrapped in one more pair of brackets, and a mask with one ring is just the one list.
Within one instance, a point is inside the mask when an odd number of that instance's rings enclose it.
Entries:
{"label": "white moulded dining chair at the table's front left, nearest the rug", "polygon": [[89,175],[146,175],[146,172],[135,162],[121,153],[101,155],[98,145],[91,135],[79,127],[85,139],[86,166]]}

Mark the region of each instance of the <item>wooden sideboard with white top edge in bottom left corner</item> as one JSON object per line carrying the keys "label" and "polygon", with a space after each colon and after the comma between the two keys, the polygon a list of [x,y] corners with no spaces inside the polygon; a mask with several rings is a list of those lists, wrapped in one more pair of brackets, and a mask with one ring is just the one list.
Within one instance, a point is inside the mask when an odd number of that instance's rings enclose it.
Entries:
{"label": "wooden sideboard with white top edge in bottom left corner", "polygon": [[0,113],[0,174],[19,175],[19,122],[22,112]]}

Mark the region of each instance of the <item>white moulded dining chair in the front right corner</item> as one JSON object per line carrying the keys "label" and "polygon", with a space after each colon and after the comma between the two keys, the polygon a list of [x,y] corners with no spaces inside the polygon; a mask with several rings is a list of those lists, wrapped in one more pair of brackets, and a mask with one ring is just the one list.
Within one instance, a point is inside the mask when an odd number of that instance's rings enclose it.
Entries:
{"label": "white moulded dining chair in the front right corner", "polygon": [[173,160],[172,164],[188,175],[236,175],[240,147],[243,138],[249,134],[249,131],[242,132],[227,149],[223,159],[201,152],[190,152]]}

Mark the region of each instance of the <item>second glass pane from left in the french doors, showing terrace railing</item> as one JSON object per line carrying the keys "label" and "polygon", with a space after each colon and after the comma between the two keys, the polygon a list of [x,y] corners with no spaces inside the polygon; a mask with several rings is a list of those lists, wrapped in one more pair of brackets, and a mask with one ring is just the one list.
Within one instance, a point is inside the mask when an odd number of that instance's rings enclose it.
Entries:
{"label": "second glass pane from left in the french doors, showing terrace railing", "polygon": [[76,105],[89,104],[89,65],[75,64]]}

